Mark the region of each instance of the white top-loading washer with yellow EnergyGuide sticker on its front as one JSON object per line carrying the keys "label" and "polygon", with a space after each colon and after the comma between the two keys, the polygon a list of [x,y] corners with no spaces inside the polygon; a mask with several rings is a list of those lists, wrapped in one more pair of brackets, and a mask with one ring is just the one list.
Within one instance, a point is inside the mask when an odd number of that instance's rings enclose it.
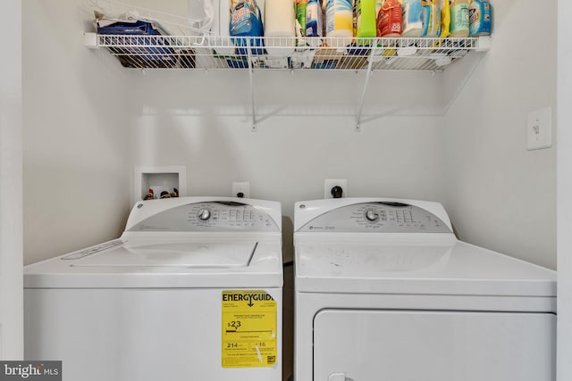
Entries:
{"label": "white top-loading washer with yellow EnergyGuide sticker on its front", "polygon": [[137,203],[119,239],[24,269],[26,359],[63,360],[64,381],[282,380],[281,216]]}

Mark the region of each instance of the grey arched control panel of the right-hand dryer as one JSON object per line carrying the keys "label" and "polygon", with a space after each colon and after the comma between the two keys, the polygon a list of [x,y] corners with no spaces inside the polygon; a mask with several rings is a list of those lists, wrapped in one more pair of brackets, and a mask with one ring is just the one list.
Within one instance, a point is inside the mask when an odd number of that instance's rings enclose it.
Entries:
{"label": "grey arched control panel of the right-hand dryer", "polygon": [[451,233],[447,224],[432,212],[408,203],[392,202],[342,206],[310,220],[299,231]]}

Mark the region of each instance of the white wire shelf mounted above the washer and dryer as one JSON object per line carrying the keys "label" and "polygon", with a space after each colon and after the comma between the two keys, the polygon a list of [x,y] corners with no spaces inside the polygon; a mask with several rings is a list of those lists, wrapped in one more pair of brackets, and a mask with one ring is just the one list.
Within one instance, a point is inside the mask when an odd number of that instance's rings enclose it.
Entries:
{"label": "white wire shelf mounted above the washer and dryer", "polygon": [[344,38],[97,35],[124,67],[204,70],[442,71],[467,54],[490,48],[491,37]]}

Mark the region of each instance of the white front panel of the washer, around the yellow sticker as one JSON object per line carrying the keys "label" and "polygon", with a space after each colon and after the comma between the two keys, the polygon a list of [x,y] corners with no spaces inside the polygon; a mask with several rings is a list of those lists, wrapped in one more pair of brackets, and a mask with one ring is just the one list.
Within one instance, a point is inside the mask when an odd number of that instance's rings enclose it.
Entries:
{"label": "white front panel of the washer, around the yellow sticker", "polygon": [[26,359],[63,360],[64,381],[280,381],[282,287],[240,288],[276,302],[273,367],[222,367],[223,291],[240,289],[219,286],[26,289]]}

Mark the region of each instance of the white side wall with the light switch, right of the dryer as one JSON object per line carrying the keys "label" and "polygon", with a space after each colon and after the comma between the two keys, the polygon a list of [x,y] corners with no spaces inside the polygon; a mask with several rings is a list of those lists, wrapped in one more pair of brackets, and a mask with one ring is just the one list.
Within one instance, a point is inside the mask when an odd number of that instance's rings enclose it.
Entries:
{"label": "white side wall with the light switch, right of the dryer", "polygon": [[556,131],[556,3],[493,5],[492,49],[445,118],[445,207],[462,239],[555,269],[556,142],[526,151],[526,120],[551,106]]}

